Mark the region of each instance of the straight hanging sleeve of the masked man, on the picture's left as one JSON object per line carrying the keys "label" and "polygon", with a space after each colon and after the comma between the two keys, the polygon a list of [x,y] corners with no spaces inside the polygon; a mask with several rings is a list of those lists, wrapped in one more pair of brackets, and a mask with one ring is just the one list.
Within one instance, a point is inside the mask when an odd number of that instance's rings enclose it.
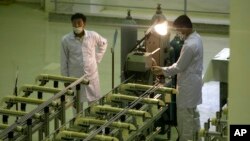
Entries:
{"label": "straight hanging sleeve of the masked man, on the picture's left", "polygon": [[68,48],[62,40],[61,42],[61,75],[63,76],[69,76],[68,58],[69,58]]}

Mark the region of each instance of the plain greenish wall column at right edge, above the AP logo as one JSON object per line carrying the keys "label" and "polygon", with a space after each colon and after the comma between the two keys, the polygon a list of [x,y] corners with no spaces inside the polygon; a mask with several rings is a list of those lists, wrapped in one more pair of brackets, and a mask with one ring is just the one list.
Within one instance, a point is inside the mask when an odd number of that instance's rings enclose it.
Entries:
{"label": "plain greenish wall column at right edge, above the AP logo", "polygon": [[249,5],[230,1],[229,124],[250,124]]}

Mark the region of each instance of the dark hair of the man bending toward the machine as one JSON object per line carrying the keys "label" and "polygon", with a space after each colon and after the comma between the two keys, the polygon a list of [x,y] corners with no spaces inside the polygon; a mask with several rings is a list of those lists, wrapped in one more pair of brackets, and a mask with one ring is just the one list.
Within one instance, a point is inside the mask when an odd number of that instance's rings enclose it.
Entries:
{"label": "dark hair of the man bending toward the machine", "polygon": [[174,27],[193,28],[193,24],[187,15],[181,15],[174,21]]}

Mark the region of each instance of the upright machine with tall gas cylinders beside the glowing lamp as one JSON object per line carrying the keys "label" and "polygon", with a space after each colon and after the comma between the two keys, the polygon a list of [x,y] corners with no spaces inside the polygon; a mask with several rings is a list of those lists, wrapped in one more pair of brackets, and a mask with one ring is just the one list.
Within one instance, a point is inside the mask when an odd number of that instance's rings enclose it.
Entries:
{"label": "upright machine with tall gas cylinders beside the glowing lamp", "polygon": [[[163,86],[175,88],[175,77],[164,78],[163,76],[160,76],[156,78],[152,75],[150,70],[152,65],[172,65],[175,62],[175,58],[172,54],[180,51],[178,49],[180,49],[183,44],[183,42],[179,42],[181,40],[173,40],[173,48],[170,46],[171,44],[169,41],[170,32],[166,35],[159,35],[154,30],[156,24],[164,21],[167,22],[166,17],[162,13],[160,4],[157,6],[156,13],[152,17],[151,26],[145,32],[145,36],[138,40],[135,46],[131,46],[131,44],[129,45],[128,43],[134,43],[135,40],[132,37],[137,37],[137,32],[135,30],[136,22],[133,21],[130,13],[128,17],[130,18],[127,18],[125,21],[128,25],[125,27],[129,30],[121,30],[121,57],[126,56],[125,62],[123,61],[124,58],[121,58],[121,64],[124,64],[124,66],[121,66],[121,80],[124,81],[128,79],[128,82],[131,83],[153,85],[154,81],[158,79]],[[128,22],[128,20],[130,22]],[[122,29],[125,28],[122,27]],[[125,41],[123,42],[123,40]],[[162,128],[160,134],[168,134],[168,139],[171,138],[170,127],[177,125],[175,95],[171,97],[171,101],[172,102],[168,105],[166,112],[164,112],[161,118],[155,123]]]}

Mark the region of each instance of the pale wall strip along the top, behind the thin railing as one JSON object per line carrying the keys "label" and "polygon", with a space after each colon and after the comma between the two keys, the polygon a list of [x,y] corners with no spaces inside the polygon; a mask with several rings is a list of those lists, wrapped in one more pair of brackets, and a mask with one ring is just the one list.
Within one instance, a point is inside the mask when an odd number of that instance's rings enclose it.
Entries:
{"label": "pale wall strip along the top, behind the thin railing", "polygon": [[[38,0],[27,0],[27,1],[38,1]],[[47,7],[51,7],[50,0],[44,0],[47,3]],[[57,0],[60,2],[60,0]],[[67,0],[63,0],[67,1]],[[68,0],[71,2],[71,0]],[[75,0],[76,4],[59,4],[58,10],[66,12],[71,9],[73,12],[88,12],[95,13],[103,9],[116,9],[124,7],[126,9],[133,7],[140,7],[146,9],[154,9],[157,4],[161,4],[163,9],[176,9],[184,10],[185,0]],[[87,4],[104,4],[106,6],[96,6],[96,5],[84,5]],[[48,5],[49,4],[49,5]],[[64,5],[64,6],[62,6]],[[65,9],[65,7],[69,9]],[[117,6],[117,7],[115,7]],[[61,9],[60,9],[61,8]],[[53,10],[51,8],[46,8],[47,10]],[[187,0],[187,10],[188,11],[202,11],[202,12],[229,12],[229,0]]]}

